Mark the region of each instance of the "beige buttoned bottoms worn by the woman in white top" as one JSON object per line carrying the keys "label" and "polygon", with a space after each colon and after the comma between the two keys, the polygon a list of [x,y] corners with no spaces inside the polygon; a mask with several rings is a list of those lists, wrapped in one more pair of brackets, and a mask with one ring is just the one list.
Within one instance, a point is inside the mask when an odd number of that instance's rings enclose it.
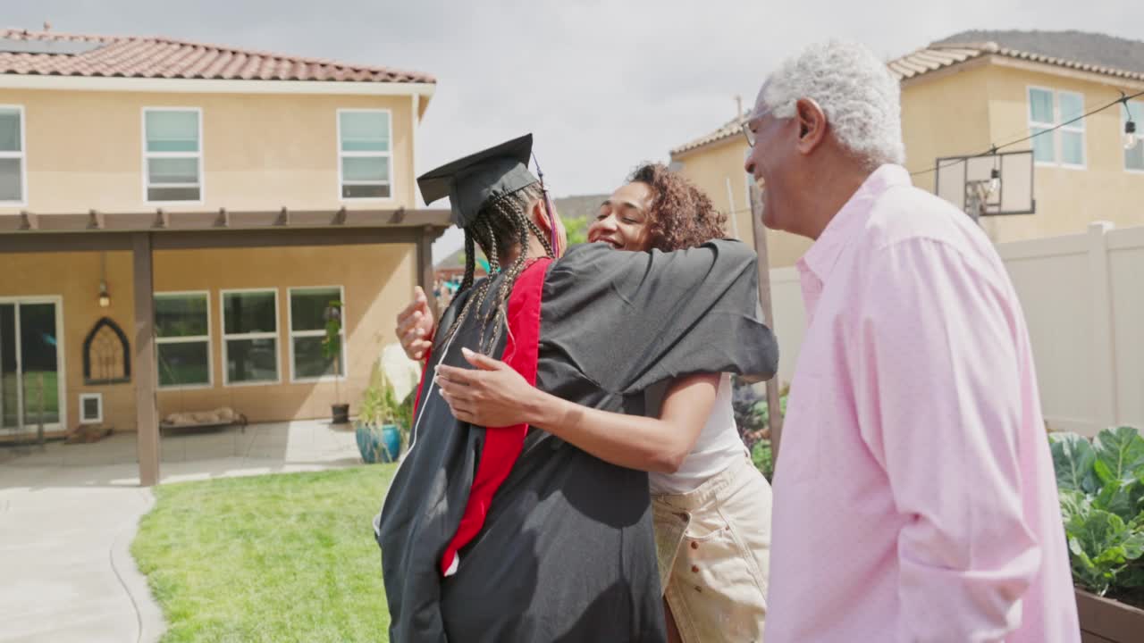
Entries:
{"label": "beige buttoned bottoms worn by the woman in white top", "polygon": [[652,495],[660,580],[684,643],[763,640],[771,486],[746,455],[699,489]]}

